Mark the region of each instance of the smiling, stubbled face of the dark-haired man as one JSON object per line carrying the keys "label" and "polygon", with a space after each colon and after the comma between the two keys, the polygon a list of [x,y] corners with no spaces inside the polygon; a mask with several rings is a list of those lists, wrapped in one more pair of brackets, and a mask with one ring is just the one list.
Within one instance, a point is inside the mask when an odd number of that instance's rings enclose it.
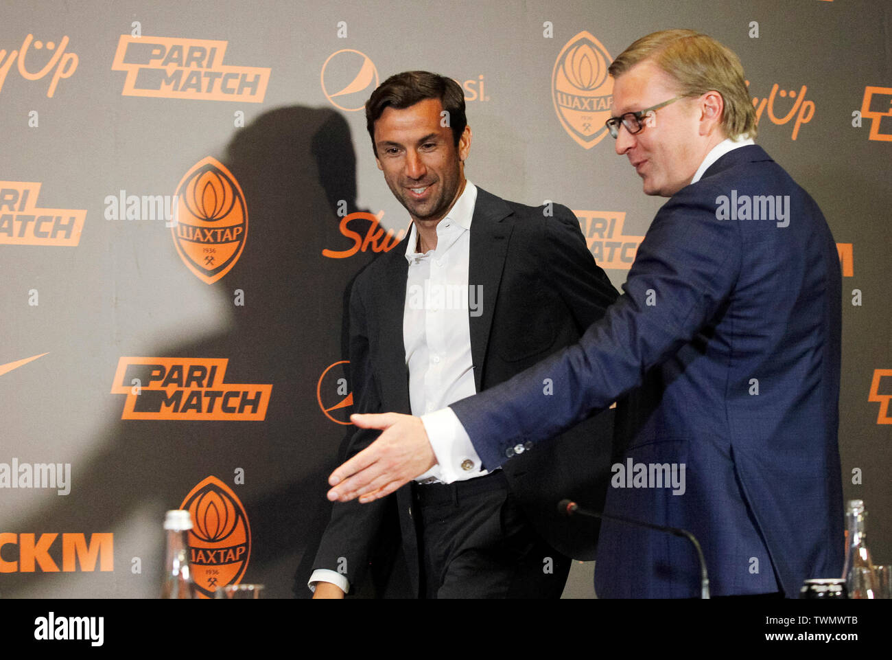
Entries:
{"label": "smiling, stubbled face of the dark-haired man", "polygon": [[471,147],[465,127],[455,145],[441,125],[442,104],[425,98],[402,110],[388,107],[375,122],[378,169],[413,221],[435,225],[465,189],[464,161]]}

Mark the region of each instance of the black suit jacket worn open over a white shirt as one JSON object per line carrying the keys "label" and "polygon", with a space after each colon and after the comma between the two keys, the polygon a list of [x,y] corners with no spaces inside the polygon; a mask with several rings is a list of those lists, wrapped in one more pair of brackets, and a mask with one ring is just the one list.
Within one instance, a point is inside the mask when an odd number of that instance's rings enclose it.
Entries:
{"label": "black suit jacket worn open over a white shirt", "polygon": [[[550,211],[477,188],[468,284],[480,285],[483,293],[482,313],[469,316],[478,392],[574,344],[618,296],[589,252],[574,214],[560,205]],[[359,413],[411,412],[402,333],[406,241],[369,264],[351,292],[350,373]],[[543,382],[542,387],[559,386]],[[377,435],[376,430],[357,430],[342,458],[368,447]],[[557,503],[574,497],[601,508],[610,476],[611,435],[612,411],[607,411],[567,431],[561,442],[536,447],[505,465],[512,496],[543,538],[567,556],[593,558],[598,527],[560,519]],[[417,535],[408,485],[371,504],[335,504],[314,570],[340,568],[351,589],[358,585],[387,507],[394,504],[411,590],[417,595]]]}

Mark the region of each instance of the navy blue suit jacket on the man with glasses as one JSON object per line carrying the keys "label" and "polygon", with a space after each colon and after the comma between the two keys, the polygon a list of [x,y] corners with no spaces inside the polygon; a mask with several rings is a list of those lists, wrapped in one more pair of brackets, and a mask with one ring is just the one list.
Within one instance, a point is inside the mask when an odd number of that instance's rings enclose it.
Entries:
{"label": "navy blue suit jacket on the man with glasses", "polygon": [[[718,219],[723,196],[737,219]],[[769,219],[765,196],[781,203]],[[740,218],[747,197],[763,217],[750,205]],[[814,200],[761,147],[739,147],[660,209],[623,288],[578,344],[451,406],[484,466],[627,394],[615,458],[654,475],[617,470],[608,513],[692,531],[714,595],[797,597],[806,578],[838,576],[841,281]],[[673,464],[683,493],[650,468]],[[605,522],[596,589],[696,597],[696,557],[684,539]]]}

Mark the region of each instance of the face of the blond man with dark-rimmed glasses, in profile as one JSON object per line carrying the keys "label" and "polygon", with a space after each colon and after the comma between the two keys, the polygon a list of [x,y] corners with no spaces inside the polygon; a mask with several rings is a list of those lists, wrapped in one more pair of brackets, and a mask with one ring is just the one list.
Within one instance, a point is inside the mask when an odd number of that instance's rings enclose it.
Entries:
{"label": "face of the blond man with dark-rimmed glasses, in profile", "polygon": [[[615,79],[613,115],[645,110],[679,93],[665,71],[644,60]],[[616,153],[628,156],[643,180],[645,194],[671,197],[690,183],[706,154],[723,139],[714,130],[712,113],[704,97],[681,98],[642,118],[645,126],[634,135],[620,127]]]}

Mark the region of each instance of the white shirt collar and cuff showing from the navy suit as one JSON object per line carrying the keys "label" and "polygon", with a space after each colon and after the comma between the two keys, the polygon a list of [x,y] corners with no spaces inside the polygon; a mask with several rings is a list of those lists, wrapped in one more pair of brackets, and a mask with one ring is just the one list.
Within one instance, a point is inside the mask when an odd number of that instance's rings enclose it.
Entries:
{"label": "white shirt collar and cuff showing from the navy suit", "polygon": [[[710,165],[715,163],[723,155],[741,146],[755,145],[752,138],[742,140],[734,140],[725,138],[722,142],[715,145],[706,154],[703,163],[700,163],[691,183],[697,183],[703,176],[704,172],[709,169]],[[413,414],[415,410],[412,410]],[[424,414],[421,422],[425,425],[427,438],[431,441],[431,447],[434,447],[434,455],[437,457],[437,466],[440,468],[439,478],[446,483],[451,483],[461,479],[461,464],[463,461],[472,461],[475,465],[480,465],[480,455],[477,454],[474,444],[467,436],[465,427],[458,421],[458,416],[452,412],[451,408],[443,408],[434,411],[434,413]],[[442,447],[446,447],[444,451]]]}

